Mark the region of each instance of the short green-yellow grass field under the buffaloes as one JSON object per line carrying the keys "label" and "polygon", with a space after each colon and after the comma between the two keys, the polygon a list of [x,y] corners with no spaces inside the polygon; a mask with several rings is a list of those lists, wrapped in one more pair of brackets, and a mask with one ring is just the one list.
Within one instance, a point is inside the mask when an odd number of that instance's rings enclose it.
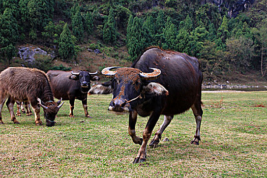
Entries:
{"label": "short green-yellow grass field under the buffaloes", "polygon": [[[147,161],[132,164],[139,145],[128,135],[128,115],[107,111],[111,95],[89,96],[85,118],[63,105],[54,127],[35,126],[34,116],[12,124],[6,105],[0,125],[0,177],[267,177],[267,92],[203,93],[201,142],[192,145],[191,109],[175,115]],[[43,111],[42,111],[43,113]],[[43,115],[41,116],[45,124]],[[138,117],[141,136],[148,117]],[[163,116],[154,133],[163,122]]]}

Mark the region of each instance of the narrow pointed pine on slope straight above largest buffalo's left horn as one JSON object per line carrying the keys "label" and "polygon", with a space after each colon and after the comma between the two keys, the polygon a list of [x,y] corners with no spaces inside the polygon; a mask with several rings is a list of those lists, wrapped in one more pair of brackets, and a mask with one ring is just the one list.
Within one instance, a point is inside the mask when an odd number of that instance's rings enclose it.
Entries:
{"label": "narrow pointed pine on slope straight above largest buffalo's left horn", "polygon": [[117,39],[117,29],[114,18],[113,8],[110,8],[108,19],[103,28],[103,40],[105,43],[114,44]]}

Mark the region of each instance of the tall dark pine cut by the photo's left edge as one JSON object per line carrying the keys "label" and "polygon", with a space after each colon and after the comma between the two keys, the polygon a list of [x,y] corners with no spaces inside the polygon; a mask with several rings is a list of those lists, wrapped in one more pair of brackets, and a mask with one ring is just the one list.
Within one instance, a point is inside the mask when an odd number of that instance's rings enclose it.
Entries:
{"label": "tall dark pine cut by the photo's left edge", "polygon": [[13,11],[6,8],[3,15],[0,16],[0,58],[8,63],[15,55],[15,45],[18,39],[18,25]]}

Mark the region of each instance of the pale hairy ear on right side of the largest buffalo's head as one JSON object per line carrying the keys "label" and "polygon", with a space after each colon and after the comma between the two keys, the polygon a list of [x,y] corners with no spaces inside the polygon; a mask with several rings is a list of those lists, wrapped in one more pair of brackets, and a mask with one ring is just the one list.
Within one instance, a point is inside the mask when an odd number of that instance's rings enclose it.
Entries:
{"label": "pale hairy ear on right side of the largest buffalo's head", "polygon": [[166,90],[164,86],[162,86],[159,83],[150,82],[147,85],[143,86],[142,90],[143,94],[149,94],[149,95],[169,95],[169,92]]}

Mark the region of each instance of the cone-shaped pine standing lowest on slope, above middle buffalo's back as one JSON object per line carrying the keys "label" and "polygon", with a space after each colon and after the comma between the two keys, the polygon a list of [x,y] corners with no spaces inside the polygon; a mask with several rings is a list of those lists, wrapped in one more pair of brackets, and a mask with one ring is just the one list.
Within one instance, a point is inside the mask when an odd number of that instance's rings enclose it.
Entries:
{"label": "cone-shaped pine standing lowest on slope, above middle buffalo's back", "polygon": [[63,31],[60,35],[60,43],[58,45],[58,54],[64,60],[72,60],[76,55],[74,50],[74,43],[68,24],[66,23],[63,27]]}

